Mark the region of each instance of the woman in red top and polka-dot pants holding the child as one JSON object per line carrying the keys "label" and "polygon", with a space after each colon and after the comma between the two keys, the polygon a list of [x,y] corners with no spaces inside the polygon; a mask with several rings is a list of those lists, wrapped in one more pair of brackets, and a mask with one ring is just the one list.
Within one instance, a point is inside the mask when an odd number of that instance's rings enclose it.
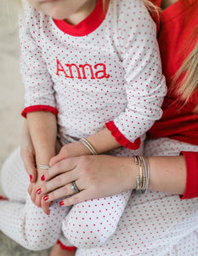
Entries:
{"label": "woman in red top and polka-dot pants holding the child", "polygon": [[[165,1],[167,3],[167,1]],[[170,9],[171,8],[171,9]],[[184,12],[184,10],[186,10]],[[173,38],[173,35],[178,36],[182,35],[181,32],[184,32],[183,41],[173,40],[173,47],[170,49],[167,48],[167,43],[161,45],[161,54],[164,63],[164,72],[168,79],[171,78],[171,75],[174,74],[178,70],[178,64],[180,65],[182,61],[178,61],[173,52],[175,51],[175,47],[180,47],[180,51],[182,49],[181,45],[184,45],[184,39],[190,38],[192,32],[196,32],[195,28],[197,26],[197,17],[193,15],[193,12],[197,10],[197,1],[178,1],[174,3],[173,6],[169,7],[167,10],[162,12],[161,14],[161,33],[159,36],[159,42],[161,44],[161,37],[163,37],[163,41],[166,40],[165,35],[167,33]],[[188,13],[189,12],[189,13]],[[181,14],[185,15],[182,16]],[[167,17],[167,20],[165,20]],[[188,17],[188,19],[187,19]],[[175,22],[174,19],[177,18],[178,22]],[[186,26],[183,26],[183,22],[190,22],[190,19],[193,20],[192,26],[190,30],[184,30]],[[191,21],[192,21],[191,20]],[[173,25],[176,26],[173,26]],[[178,25],[181,26],[178,26]],[[172,27],[168,27],[167,25]],[[177,29],[177,32],[176,32]],[[173,33],[171,33],[173,32]],[[180,33],[178,33],[180,32]],[[187,37],[188,35],[188,37]],[[177,38],[177,37],[176,37]],[[168,39],[168,38],[167,38]],[[193,40],[194,39],[194,40]],[[195,53],[197,53],[197,38],[193,38],[194,44],[188,49],[187,54],[190,55],[192,49],[195,49]],[[180,43],[178,45],[178,42]],[[196,44],[196,46],[195,46]],[[165,47],[166,46],[166,47]],[[174,51],[173,51],[174,50]],[[168,53],[168,54],[166,54]],[[179,52],[180,53],[180,52]],[[168,61],[167,61],[168,57]],[[172,60],[172,61],[171,61]],[[173,61],[176,61],[177,67],[171,66]],[[165,66],[167,63],[167,66]],[[168,65],[171,66],[168,69]],[[197,67],[197,63],[196,63]],[[172,70],[173,68],[173,70]],[[173,71],[167,72],[167,71]],[[166,73],[167,72],[167,73]],[[172,91],[173,93],[173,91]],[[167,101],[164,104],[164,112],[166,109],[169,109],[170,106],[167,104],[170,96],[175,96],[175,94],[168,95]],[[195,99],[195,98],[194,98]],[[189,99],[188,99],[189,100]],[[168,102],[169,103],[169,102]],[[184,103],[184,102],[183,102]],[[166,105],[167,104],[167,105]],[[173,102],[172,102],[173,104]],[[194,106],[192,106],[194,105]],[[196,104],[197,105],[197,104]],[[173,106],[173,105],[171,105]],[[193,104],[188,101],[188,104],[178,104],[180,112],[176,112],[176,116],[174,119],[179,117],[179,113],[182,113],[182,110],[189,118],[189,123],[187,126],[192,124],[196,125],[194,121],[197,120],[197,114],[195,112],[195,103]],[[191,108],[190,108],[191,106]],[[168,107],[168,108],[167,108]],[[173,106],[173,109],[176,109]],[[176,109],[177,110],[177,109]],[[173,111],[173,110],[172,110]],[[192,113],[192,115],[191,115]],[[170,118],[173,113],[167,113],[167,117]],[[166,117],[166,116],[164,116]],[[164,119],[162,119],[164,120]],[[179,119],[181,120],[181,119]],[[184,119],[183,119],[184,121]],[[161,124],[161,123],[159,123]],[[167,123],[162,123],[167,124]],[[170,126],[170,123],[168,124]],[[167,125],[167,127],[169,127]],[[178,123],[178,126],[181,125],[181,122]],[[150,131],[150,137],[153,137],[152,134],[155,134],[155,130],[159,126],[154,126],[153,130]],[[166,127],[166,129],[167,129]],[[193,126],[195,128],[195,126]],[[197,127],[196,127],[197,128]],[[157,131],[157,130],[156,130]],[[159,136],[158,130],[158,136]],[[178,132],[178,127],[173,135],[177,131],[177,133],[184,135],[184,131]],[[195,129],[197,132],[197,129]],[[172,134],[161,136],[171,137]],[[195,135],[195,133],[194,133]],[[160,136],[159,136],[160,137]],[[184,136],[183,136],[184,137]],[[186,136],[185,136],[186,137]],[[192,137],[190,134],[189,138]],[[149,143],[145,152],[147,155],[151,154],[179,154],[181,150],[186,151],[198,151],[198,147],[190,145],[189,143],[193,143],[192,140],[185,142],[184,138],[177,138],[178,141],[172,141],[167,139],[167,141],[154,140]],[[195,137],[193,137],[194,139]],[[27,140],[26,140],[27,141]],[[180,142],[181,141],[181,142]],[[159,142],[159,143],[158,143]],[[167,143],[167,144],[166,144]],[[151,145],[151,147],[150,147]],[[154,148],[154,146],[155,148]],[[160,146],[162,147],[160,148]],[[166,146],[167,145],[167,146]],[[170,146],[173,146],[172,151],[170,151]],[[155,149],[153,152],[150,152],[150,148]],[[23,151],[24,154],[25,151]],[[27,154],[25,154],[27,155]],[[30,154],[32,156],[32,154]],[[194,165],[195,165],[195,156],[197,154],[188,154],[184,153],[187,160],[187,167],[189,166],[189,160],[192,160],[192,156],[194,156]],[[190,155],[190,157],[189,157]],[[32,158],[31,158],[32,160]],[[122,219],[116,231],[116,234],[110,238],[109,241],[105,243],[103,247],[99,247],[97,249],[83,249],[80,248],[76,251],[76,255],[105,255],[105,254],[113,254],[113,255],[134,255],[134,254],[143,254],[143,255],[170,255],[177,254],[178,252],[181,255],[195,255],[197,252],[197,236],[196,230],[197,227],[197,199],[193,199],[190,201],[180,201],[178,195],[184,195],[184,198],[194,197],[197,195],[197,183],[196,181],[192,183],[190,180],[192,171],[195,171],[194,168],[187,168],[187,182],[186,182],[186,170],[185,170],[185,162],[184,156],[175,156],[175,157],[150,157],[150,190],[147,195],[133,195],[131,200],[129,201],[125,212],[123,213]],[[30,163],[30,161],[29,161]],[[54,162],[52,165],[54,166]],[[197,163],[197,160],[196,160]],[[29,164],[30,165],[30,164]],[[31,170],[32,166],[31,166]],[[192,170],[192,171],[191,171]],[[66,172],[70,171],[70,172]],[[60,188],[55,190],[53,193],[48,193],[48,201],[53,201],[55,198],[59,198],[62,195],[71,195],[73,190],[71,188],[71,182],[76,180],[76,185],[78,189],[82,190],[80,193],[69,197],[65,200],[65,205],[71,205],[73,203],[88,200],[91,198],[99,197],[99,196],[107,196],[114,195],[118,192],[121,192],[125,189],[135,189],[136,187],[136,175],[139,173],[139,166],[136,166],[132,159],[122,159],[115,158],[110,156],[90,156],[90,157],[80,157],[80,158],[72,158],[68,160],[63,160],[59,162],[58,165],[52,167],[45,174],[45,180],[48,180],[50,177],[53,177],[56,174],[60,173],[59,180],[61,183],[57,185],[56,178],[51,180],[48,183],[45,183],[42,187],[42,193],[46,194],[50,190],[54,190],[55,188]],[[61,174],[62,173],[62,174]],[[83,173],[83,175],[82,175]],[[196,174],[196,173],[195,173]],[[32,175],[32,173],[31,173]],[[196,174],[197,175],[197,174]],[[77,177],[77,178],[76,178]],[[196,176],[197,177],[197,176]],[[35,176],[33,175],[33,179]],[[101,185],[102,184],[102,185]],[[189,187],[193,186],[195,191],[190,190]],[[61,191],[61,188],[64,190]],[[186,188],[186,189],[185,189]],[[153,192],[154,191],[163,191]],[[175,195],[171,195],[168,193],[173,193]],[[92,193],[92,194],[91,194]],[[178,195],[176,195],[178,194]]]}

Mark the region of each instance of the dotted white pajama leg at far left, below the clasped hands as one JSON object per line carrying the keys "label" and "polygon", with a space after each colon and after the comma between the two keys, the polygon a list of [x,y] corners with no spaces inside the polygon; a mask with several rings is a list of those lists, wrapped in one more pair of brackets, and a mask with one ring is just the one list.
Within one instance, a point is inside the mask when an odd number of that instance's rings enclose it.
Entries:
{"label": "dotted white pajama leg at far left, below the clasped hands", "polygon": [[54,201],[48,216],[32,203],[27,193],[30,180],[20,159],[20,148],[3,164],[1,182],[8,201],[0,201],[0,230],[29,250],[54,246],[70,208],[59,207],[59,201]]}

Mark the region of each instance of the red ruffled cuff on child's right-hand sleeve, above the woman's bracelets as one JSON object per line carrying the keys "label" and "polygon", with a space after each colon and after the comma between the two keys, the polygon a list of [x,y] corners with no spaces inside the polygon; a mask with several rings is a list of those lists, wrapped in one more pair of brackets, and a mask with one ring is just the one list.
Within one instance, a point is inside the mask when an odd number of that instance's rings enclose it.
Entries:
{"label": "red ruffled cuff on child's right-hand sleeve, above the woman's bracelets", "polygon": [[111,135],[116,138],[116,141],[120,143],[123,147],[128,149],[136,150],[140,147],[141,140],[140,138],[137,138],[134,143],[131,143],[129,140],[127,140],[126,137],[123,136],[123,134],[118,130],[116,125],[113,121],[110,121],[105,124],[106,128],[111,132]]}

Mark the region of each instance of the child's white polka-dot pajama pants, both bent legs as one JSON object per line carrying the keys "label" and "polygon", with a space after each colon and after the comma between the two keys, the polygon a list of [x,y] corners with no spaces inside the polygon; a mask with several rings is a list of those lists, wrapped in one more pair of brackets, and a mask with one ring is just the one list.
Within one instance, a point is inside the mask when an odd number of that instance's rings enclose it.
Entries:
{"label": "child's white polka-dot pajama pants, both bent legs", "polygon": [[[119,156],[142,152],[143,147],[136,151],[127,148],[111,151]],[[30,182],[20,159],[20,148],[5,161],[1,181],[9,200],[0,201],[0,230],[30,250],[54,246],[61,230],[67,239],[65,245],[83,248],[101,246],[115,232],[131,195],[131,190],[128,190],[120,195],[85,201],[73,207],[59,207],[60,199],[54,201],[48,216],[31,202],[27,193]]]}

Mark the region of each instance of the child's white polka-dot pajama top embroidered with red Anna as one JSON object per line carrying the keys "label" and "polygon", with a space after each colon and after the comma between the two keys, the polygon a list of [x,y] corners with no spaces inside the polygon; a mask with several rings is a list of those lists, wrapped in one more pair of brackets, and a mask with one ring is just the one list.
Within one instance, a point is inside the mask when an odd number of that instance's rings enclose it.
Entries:
{"label": "child's white polka-dot pajama top embroidered with red Anna", "polygon": [[160,119],[166,93],[154,21],[141,1],[116,0],[93,32],[72,36],[66,27],[31,7],[20,21],[25,108],[57,108],[63,141],[113,121],[133,143]]}

